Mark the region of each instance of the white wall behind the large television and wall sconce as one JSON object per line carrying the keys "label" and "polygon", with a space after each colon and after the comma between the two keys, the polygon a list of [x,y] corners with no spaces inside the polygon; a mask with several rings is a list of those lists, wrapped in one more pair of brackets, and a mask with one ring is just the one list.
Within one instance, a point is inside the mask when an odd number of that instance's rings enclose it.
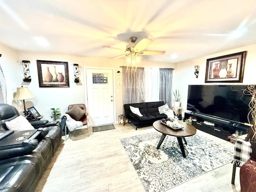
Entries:
{"label": "white wall behind the large television and wall sconce", "polygon": [[[209,58],[214,58],[218,56],[224,56],[232,53],[247,51],[245,68],[244,68],[244,79],[242,83],[205,83],[205,74],[206,74],[206,60]],[[194,66],[200,65],[200,72],[198,78],[194,75]],[[179,89],[181,92],[181,107],[182,112],[186,111],[187,105],[187,94],[188,94],[188,85],[195,84],[256,84],[256,44],[251,46],[245,46],[225,52],[220,52],[217,54],[212,54],[208,56],[204,56],[201,58],[188,60],[184,62],[180,62],[176,66],[176,85],[174,87]]]}

